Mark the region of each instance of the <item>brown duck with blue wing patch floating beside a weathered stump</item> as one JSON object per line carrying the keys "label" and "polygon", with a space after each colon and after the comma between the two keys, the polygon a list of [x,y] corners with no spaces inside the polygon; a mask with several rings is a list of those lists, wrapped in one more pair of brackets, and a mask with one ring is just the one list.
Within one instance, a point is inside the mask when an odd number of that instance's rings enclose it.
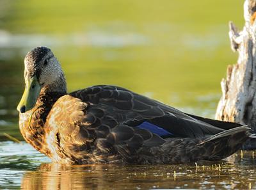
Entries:
{"label": "brown duck with blue wing patch floating beside a weathered stump", "polygon": [[179,164],[220,161],[251,130],[184,113],[119,86],[67,92],[61,64],[48,47],[24,59],[26,83],[17,106],[22,136],[60,164]]}

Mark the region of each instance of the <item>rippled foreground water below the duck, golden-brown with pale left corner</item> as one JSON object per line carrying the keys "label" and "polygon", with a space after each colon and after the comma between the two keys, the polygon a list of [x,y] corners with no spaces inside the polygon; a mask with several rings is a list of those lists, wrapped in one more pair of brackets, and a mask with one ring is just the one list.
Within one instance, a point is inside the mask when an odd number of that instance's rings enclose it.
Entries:
{"label": "rippled foreground water below the duck, golden-brown with pale left corner", "polygon": [[26,143],[0,143],[1,189],[252,189],[252,152],[228,161],[177,165],[58,166]]}

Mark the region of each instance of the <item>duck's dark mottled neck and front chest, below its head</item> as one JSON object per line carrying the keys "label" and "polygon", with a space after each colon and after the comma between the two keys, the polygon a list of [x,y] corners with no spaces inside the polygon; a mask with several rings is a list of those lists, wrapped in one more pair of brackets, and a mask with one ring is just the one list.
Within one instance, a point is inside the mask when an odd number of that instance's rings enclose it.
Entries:
{"label": "duck's dark mottled neck and front chest, below its head", "polygon": [[53,104],[63,95],[67,94],[67,86],[64,76],[52,85],[42,88],[33,109],[26,113],[20,113],[19,126],[22,136],[28,143],[43,154],[49,155],[45,145],[44,125],[47,115]]}

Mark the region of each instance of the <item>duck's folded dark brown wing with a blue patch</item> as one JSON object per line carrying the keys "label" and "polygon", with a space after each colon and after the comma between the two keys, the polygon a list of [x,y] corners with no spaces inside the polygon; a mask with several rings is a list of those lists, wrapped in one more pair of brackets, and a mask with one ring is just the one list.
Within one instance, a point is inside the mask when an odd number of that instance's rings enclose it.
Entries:
{"label": "duck's folded dark brown wing with a blue patch", "polygon": [[[225,131],[225,122],[222,124],[216,120],[187,115],[178,109],[117,86],[92,86],[74,91],[70,95],[88,102],[94,109],[100,109],[103,115],[113,118],[118,124],[145,129],[162,138],[202,138]],[[97,122],[104,123],[104,120],[97,118]],[[233,124],[227,125],[230,127]],[[233,126],[237,127],[237,124]]]}

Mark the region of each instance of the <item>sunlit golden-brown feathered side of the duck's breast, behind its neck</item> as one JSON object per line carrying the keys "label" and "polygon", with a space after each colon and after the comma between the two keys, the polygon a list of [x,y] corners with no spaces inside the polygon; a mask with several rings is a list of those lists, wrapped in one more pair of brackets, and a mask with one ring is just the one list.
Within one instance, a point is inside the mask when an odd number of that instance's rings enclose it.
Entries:
{"label": "sunlit golden-brown feathered side of the duck's breast, behind its neck", "polygon": [[70,95],[58,99],[45,123],[46,145],[51,157],[58,162],[88,159],[88,150],[95,137],[88,130],[86,107],[88,104]]}

